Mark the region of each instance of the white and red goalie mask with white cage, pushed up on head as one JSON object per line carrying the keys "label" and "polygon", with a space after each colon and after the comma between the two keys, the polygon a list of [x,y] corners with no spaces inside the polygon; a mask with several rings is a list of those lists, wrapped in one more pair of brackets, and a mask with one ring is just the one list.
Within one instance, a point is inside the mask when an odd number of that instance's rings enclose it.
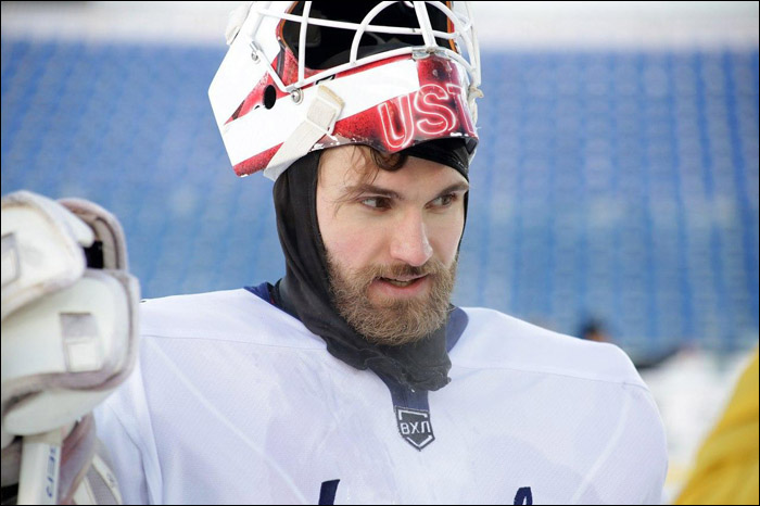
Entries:
{"label": "white and red goalie mask with white cage, pushed up on head", "polygon": [[252,2],[208,89],[235,172],[276,179],[309,151],[478,143],[480,53],[463,2]]}

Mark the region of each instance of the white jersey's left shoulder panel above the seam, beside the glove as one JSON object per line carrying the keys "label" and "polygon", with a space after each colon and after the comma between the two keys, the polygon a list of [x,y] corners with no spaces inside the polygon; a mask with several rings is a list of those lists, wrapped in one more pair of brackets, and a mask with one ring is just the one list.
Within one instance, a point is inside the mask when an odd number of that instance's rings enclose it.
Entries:
{"label": "white jersey's left shoulder panel above the seam, beside the glove", "polygon": [[140,304],[140,319],[143,338],[325,347],[296,318],[244,289],[145,300]]}

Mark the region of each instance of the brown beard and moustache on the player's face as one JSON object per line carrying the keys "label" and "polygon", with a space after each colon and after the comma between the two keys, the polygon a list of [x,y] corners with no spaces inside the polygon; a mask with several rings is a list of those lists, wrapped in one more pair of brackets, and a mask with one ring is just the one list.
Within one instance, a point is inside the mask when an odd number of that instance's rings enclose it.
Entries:
{"label": "brown beard and moustache on the player's face", "polygon": [[[407,264],[369,265],[357,270],[343,268],[327,254],[330,290],[339,314],[367,341],[398,346],[416,342],[446,324],[456,279],[457,261],[446,267],[430,260],[421,267]],[[370,284],[380,278],[428,276],[428,293],[415,298],[369,299]]]}

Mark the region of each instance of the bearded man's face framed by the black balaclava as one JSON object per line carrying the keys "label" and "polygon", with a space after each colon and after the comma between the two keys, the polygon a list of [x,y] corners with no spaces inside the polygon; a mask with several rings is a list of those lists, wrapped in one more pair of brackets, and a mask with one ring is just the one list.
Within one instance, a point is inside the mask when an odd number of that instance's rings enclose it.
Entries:
{"label": "bearded man's face framed by the black balaclava", "polygon": [[369,341],[398,345],[445,321],[468,185],[413,156],[367,179],[370,167],[362,148],[325,151],[317,217],[341,316]]}

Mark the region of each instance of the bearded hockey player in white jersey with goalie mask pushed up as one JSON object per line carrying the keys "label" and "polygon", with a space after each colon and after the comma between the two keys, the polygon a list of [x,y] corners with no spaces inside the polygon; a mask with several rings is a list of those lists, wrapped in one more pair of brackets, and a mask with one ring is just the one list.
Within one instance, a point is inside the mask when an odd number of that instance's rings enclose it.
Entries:
{"label": "bearded hockey player in white jersey with goalie mask pushed up", "polygon": [[659,503],[622,351],[451,305],[480,96],[453,3],[231,17],[210,98],[236,173],[276,181],[286,276],[141,304],[96,409],[125,502]]}

